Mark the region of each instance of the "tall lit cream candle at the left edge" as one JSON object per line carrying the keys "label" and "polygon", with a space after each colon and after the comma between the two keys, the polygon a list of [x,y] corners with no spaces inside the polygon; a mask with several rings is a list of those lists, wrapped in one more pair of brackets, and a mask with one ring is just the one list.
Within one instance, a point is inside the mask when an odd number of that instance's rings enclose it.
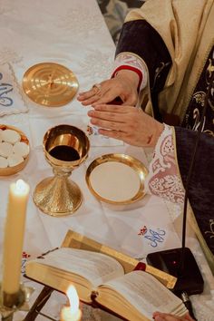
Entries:
{"label": "tall lit cream candle at the left edge", "polygon": [[24,180],[17,180],[10,185],[5,221],[2,280],[2,290],[8,295],[19,291],[28,196],[29,186]]}

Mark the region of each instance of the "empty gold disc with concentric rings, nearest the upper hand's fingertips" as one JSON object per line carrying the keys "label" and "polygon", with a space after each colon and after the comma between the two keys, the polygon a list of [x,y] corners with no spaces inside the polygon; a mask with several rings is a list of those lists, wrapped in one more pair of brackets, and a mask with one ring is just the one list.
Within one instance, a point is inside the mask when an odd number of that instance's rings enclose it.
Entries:
{"label": "empty gold disc with concentric rings, nearest the upper hand's fingertips", "polygon": [[73,100],[78,81],[71,70],[58,63],[38,63],[24,73],[23,88],[34,102],[59,107]]}

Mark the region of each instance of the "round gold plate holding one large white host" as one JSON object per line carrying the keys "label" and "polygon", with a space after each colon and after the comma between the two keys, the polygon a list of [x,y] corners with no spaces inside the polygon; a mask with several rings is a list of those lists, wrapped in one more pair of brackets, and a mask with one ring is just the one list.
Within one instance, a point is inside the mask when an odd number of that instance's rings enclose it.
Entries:
{"label": "round gold plate holding one large white host", "polygon": [[147,174],[140,160],[125,154],[106,154],[92,161],[85,179],[97,199],[111,204],[131,204],[144,197]]}

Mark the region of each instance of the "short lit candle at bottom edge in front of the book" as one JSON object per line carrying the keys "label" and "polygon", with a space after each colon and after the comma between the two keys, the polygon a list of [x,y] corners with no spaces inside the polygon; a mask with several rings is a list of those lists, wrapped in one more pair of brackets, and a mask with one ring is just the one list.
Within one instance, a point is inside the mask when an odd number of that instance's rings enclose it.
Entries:
{"label": "short lit candle at bottom edge in front of the book", "polygon": [[70,306],[63,306],[61,312],[61,321],[79,321],[82,313],[79,309],[79,297],[75,287],[68,287],[66,295],[69,298]]}

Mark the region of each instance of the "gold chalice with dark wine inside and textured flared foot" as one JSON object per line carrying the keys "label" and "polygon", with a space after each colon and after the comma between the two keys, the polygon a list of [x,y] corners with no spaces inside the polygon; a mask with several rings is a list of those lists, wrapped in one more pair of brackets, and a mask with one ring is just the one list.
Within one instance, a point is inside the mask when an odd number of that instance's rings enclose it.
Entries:
{"label": "gold chalice with dark wine inside and textured flared foot", "polygon": [[44,156],[54,174],[34,190],[34,202],[44,213],[64,216],[80,207],[82,192],[69,176],[87,158],[89,148],[88,137],[77,127],[58,125],[44,134]]}

